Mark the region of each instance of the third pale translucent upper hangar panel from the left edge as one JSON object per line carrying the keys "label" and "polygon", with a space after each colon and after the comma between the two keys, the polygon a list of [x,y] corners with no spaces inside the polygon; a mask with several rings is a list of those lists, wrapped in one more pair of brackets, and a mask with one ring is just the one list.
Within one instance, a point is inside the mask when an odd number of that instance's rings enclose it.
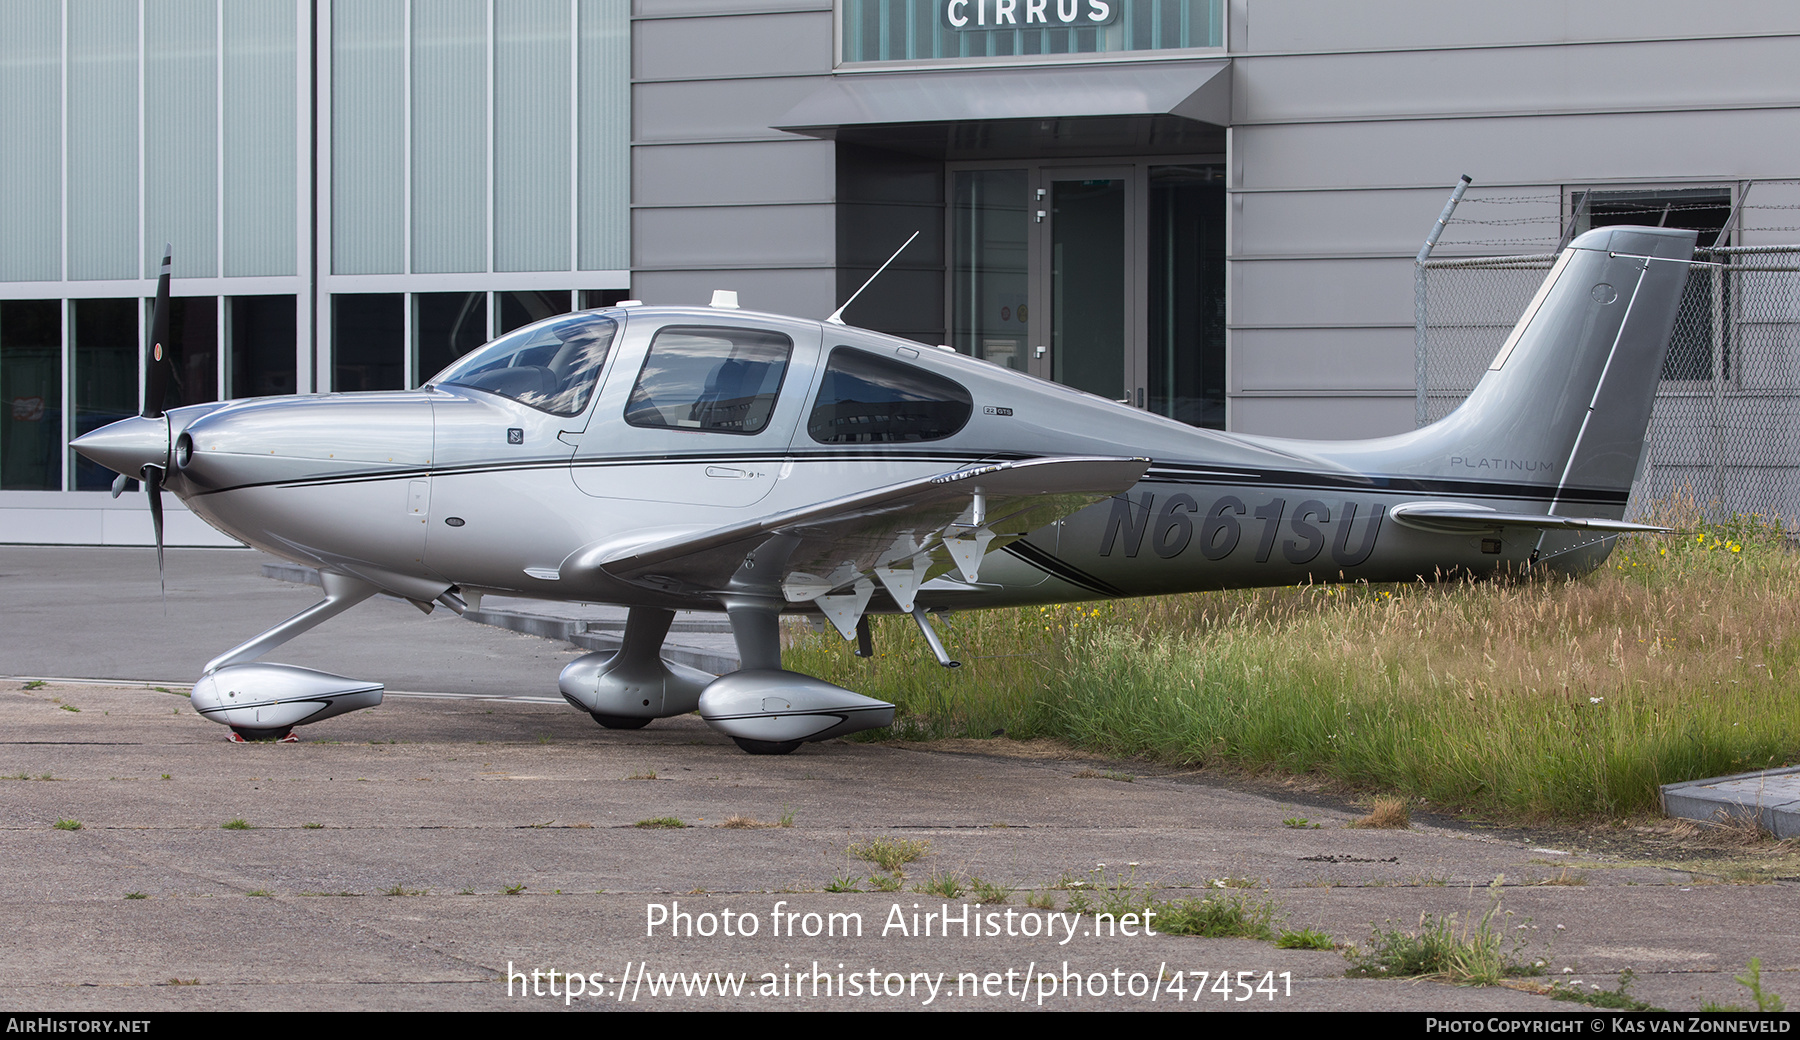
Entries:
{"label": "third pale translucent upper hangar panel from the left edge", "polygon": [[167,0],[144,18],[144,277],[212,277],[218,243],[218,5]]}

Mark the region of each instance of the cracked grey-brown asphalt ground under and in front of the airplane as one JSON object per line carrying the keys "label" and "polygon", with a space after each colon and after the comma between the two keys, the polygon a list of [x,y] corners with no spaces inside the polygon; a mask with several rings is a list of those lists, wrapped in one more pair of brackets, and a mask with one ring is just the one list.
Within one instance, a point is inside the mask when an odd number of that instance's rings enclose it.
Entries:
{"label": "cracked grey-brown asphalt ground under and in front of the airplane", "polygon": [[[193,678],[317,597],[259,563],[171,552],[164,617],[144,551],[0,547],[0,673]],[[1015,741],[751,758],[693,716],[610,732],[551,700],[576,653],[371,601],[274,657],[414,695],[297,745],[230,745],[178,691],[0,682],[5,1004],[1602,1015],[1503,986],[1346,979],[1336,950],[1107,934],[1091,916],[1069,936],[1073,918],[1048,914],[1067,912],[1073,882],[1240,898],[1278,928],[1364,945],[1422,914],[1478,934],[1498,896],[1490,930],[1546,963],[1521,986],[1615,988],[1629,968],[1631,993],[1661,1008],[1742,1004],[1733,975],[1760,957],[1764,984],[1800,999],[1795,883],[1717,883],[1530,833],[1346,829],[1346,806]],[[686,826],[634,826],[655,819]],[[895,874],[850,853],[875,838],[922,851],[898,891],[871,891]],[[1010,889],[1004,905],[922,891],[970,878]],[[722,934],[727,910],[738,934]],[[949,936],[938,919],[918,934],[945,910]],[[693,932],[657,914],[693,914],[675,918]],[[749,984],[720,995],[716,975]]]}

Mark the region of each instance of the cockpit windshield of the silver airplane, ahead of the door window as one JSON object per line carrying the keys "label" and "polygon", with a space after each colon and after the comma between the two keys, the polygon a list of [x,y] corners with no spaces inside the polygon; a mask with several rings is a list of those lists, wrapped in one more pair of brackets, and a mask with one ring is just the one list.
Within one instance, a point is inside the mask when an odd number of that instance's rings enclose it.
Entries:
{"label": "cockpit windshield of the silver airplane, ahead of the door window", "polygon": [[587,408],[619,324],[596,313],[526,326],[457,358],[432,385],[470,387],[553,416]]}

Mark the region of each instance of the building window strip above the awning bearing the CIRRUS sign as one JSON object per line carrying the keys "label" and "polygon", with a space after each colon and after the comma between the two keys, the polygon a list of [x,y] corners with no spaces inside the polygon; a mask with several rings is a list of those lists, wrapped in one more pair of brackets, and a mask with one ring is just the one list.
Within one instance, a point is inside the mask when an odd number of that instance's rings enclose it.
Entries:
{"label": "building window strip above the awning bearing the CIRRUS sign", "polygon": [[842,0],[842,59],[1224,47],[1224,0]]}

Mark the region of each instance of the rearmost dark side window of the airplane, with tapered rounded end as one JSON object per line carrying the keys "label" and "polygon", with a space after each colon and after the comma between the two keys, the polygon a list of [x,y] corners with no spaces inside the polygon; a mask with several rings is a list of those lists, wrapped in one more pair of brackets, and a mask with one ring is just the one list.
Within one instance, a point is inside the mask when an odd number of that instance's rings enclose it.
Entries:
{"label": "rearmost dark side window of the airplane, with tapered rounded end", "polygon": [[974,398],[936,372],[833,347],[806,432],[821,444],[941,441],[968,423]]}

